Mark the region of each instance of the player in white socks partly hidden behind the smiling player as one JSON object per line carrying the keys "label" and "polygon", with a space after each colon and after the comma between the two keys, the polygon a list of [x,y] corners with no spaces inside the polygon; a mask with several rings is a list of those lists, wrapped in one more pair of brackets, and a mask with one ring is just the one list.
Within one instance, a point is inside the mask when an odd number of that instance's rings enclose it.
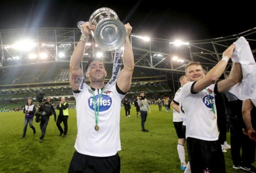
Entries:
{"label": "player in white socks partly hidden behind the smiling player", "polygon": [[179,81],[180,81],[181,86],[175,93],[174,99],[171,102],[171,107],[173,107],[173,125],[176,130],[176,134],[178,136],[177,150],[178,150],[178,155],[180,158],[180,169],[185,171],[185,169],[187,167],[186,157],[185,157],[185,148],[184,148],[186,138],[185,138],[185,133],[182,130],[183,120],[180,117],[179,111],[175,110],[175,109],[179,110],[179,99],[178,99],[178,101],[175,101],[175,99],[177,100],[178,94],[180,93],[180,90],[182,90],[182,86],[184,86],[186,83],[189,83],[189,80],[185,75],[182,75],[180,77]]}

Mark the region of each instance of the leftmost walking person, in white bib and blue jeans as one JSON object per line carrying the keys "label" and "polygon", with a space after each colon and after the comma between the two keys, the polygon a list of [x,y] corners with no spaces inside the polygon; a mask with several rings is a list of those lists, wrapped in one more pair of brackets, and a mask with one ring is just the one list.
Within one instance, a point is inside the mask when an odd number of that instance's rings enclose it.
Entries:
{"label": "leftmost walking person, in white bib and blue jeans", "polygon": [[29,123],[29,127],[33,130],[33,134],[35,134],[35,127],[33,126],[33,118],[35,114],[35,105],[32,104],[32,99],[28,99],[28,103],[25,105],[23,109],[23,113],[25,114],[25,120],[24,120],[24,128],[23,128],[23,134],[20,138],[26,137],[27,127]]}

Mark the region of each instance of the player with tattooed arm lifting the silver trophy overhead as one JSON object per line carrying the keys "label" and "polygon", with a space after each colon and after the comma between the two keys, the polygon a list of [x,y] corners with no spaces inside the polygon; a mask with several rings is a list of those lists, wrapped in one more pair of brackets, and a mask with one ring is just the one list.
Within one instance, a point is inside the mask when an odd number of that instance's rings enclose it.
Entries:
{"label": "player with tattooed arm lifting the silver trophy overhead", "polygon": [[89,36],[94,33],[93,37],[97,37],[96,27],[96,23],[90,22],[80,25],[82,35],[70,59],[70,86],[76,99],[78,134],[69,173],[119,173],[121,169],[117,153],[121,150],[120,110],[121,101],[130,89],[134,70],[134,56],[129,40],[132,27],[129,23],[123,25],[125,40],[121,57],[124,67],[117,79],[111,85],[104,85],[107,72],[102,59],[91,58],[85,67],[85,76],[91,83],[88,86],[83,77],[81,61]]}

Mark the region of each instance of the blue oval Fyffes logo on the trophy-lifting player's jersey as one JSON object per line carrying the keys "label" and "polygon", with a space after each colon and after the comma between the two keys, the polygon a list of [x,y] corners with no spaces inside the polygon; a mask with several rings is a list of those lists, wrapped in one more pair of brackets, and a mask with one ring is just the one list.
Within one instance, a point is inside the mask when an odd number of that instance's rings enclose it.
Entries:
{"label": "blue oval Fyffes logo on the trophy-lifting player's jersey", "polygon": [[[100,106],[99,112],[108,110],[112,104],[112,99],[109,96],[106,95],[102,95],[100,100],[99,100],[100,94],[95,96],[95,100],[96,100],[96,110],[98,110],[98,105]],[[94,101],[93,101],[93,97],[90,97],[88,99],[88,103],[89,103],[89,107],[91,110],[95,110],[94,107]]]}

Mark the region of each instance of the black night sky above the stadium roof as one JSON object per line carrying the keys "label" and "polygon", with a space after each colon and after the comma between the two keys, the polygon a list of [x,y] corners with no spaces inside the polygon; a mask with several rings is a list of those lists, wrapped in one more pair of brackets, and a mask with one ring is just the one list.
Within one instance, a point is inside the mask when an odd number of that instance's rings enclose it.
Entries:
{"label": "black night sky above the stadium roof", "polygon": [[[152,0],[151,0],[152,1]],[[254,6],[246,3],[157,0],[1,0],[0,30],[19,28],[77,28],[92,13],[108,7],[119,20],[133,27],[132,33],[184,41],[213,39],[256,27]],[[167,5],[166,2],[171,5]]]}

